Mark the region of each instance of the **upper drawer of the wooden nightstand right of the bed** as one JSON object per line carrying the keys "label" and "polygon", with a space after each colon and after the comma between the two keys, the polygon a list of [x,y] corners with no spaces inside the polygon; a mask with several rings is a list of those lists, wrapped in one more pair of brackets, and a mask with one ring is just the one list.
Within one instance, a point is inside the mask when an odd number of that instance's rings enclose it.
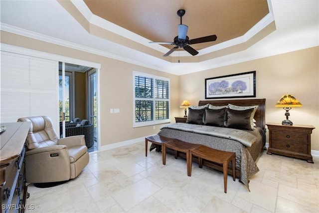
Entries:
{"label": "upper drawer of the wooden nightstand right of the bed", "polygon": [[271,140],[289,141],[308,144],[308,134],[288,131],[272,131]]}

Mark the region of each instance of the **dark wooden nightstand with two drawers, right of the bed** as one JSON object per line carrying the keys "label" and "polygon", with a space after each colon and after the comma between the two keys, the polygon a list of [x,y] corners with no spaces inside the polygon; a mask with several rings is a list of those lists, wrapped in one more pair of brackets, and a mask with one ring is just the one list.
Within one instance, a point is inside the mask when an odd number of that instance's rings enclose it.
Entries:
{"label": "dark wooden nightstand with two drawers, right of the bed", "polygon": [[278,154],[307,160],[314,163],[311,155],[311,125],[282,125],[267,123],[269,148],[267,154]]}

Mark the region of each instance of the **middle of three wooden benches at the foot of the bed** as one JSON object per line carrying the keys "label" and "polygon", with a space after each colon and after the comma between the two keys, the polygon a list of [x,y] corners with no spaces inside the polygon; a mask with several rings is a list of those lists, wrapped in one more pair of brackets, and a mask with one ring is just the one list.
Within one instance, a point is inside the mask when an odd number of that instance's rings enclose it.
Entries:
{"label": "middle of three wooden benches at the foot of the bed", "polygon": [[[186,153],[186,162],[189,161],[189,150],[198,147],[198,144],[191,144],[184,141],[180,141],[178,139],[173,139],[171,141],[167,141],[163,144],[162,154],[163,154],[163,165],[166,164],[166,148],[174,150],[175,159],[177,159],[178,152]],[[187,176],[190,176],[189,169],[186,163],[187,168]]]}

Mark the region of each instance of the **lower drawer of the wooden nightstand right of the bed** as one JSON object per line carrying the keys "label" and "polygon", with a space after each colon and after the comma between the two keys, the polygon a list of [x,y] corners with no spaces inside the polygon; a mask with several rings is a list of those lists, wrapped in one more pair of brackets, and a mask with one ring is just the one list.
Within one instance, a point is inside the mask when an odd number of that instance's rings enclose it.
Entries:
{"label": "lower drawer of the wooden nightstand right of the bed", "polygon": [[279,141],[279,140],[272,140],[271,143],[272,143],[271,147],[273,149],[301,153],[301,154],[308,154],[308,144],[307,143]]}

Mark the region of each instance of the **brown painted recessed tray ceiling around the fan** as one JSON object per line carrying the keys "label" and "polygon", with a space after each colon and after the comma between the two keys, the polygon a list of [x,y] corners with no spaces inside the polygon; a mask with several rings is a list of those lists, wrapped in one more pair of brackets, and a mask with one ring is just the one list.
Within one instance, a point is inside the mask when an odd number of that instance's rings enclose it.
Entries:
{"label": "brown painted recessed tray ceiling around the fan", "polygon": [[[151,41],[172,42],[180,17],[190,39],[216,34],[213,42],[193,44],[199,50],[244,35],[269,13],[267,0],[84,0],[110,22]],[[166,45],[172,48],[171,45]]]}

